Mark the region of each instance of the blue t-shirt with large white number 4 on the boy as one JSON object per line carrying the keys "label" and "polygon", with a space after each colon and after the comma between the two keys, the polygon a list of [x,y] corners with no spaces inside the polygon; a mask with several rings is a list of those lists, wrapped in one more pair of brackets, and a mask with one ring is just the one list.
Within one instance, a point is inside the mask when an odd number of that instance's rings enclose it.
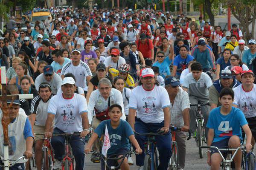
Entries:
{"label": "blue t-shirt with large white number 4 on the boy", "polygon": [[239,108],[232,107],[229,114],[221,114],[221,106],[212,109],[210,112],[207,126],[214,129],[214,138],[212,142],[218,142],[233,135],[239,136],[242,141],[241,127],[248,124],[244,113]]}

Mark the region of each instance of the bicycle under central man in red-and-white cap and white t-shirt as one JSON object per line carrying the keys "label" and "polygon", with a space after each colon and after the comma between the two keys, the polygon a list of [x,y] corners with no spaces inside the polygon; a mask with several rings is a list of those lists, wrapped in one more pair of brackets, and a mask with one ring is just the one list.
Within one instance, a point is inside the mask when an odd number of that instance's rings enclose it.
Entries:
{"label": "bicycle under central man in red-and-white cap and white t-shirt", "polygon": [[139,136],[147,136],[145,140],[145,158],[144,158],[144,166],[143,170],[157,170],[158,167],[158,154],[157,154],[157,146],[155,136],[164,136],[163,131],[159,131],[157,133],[137,133],[134,132],[135,135]]}

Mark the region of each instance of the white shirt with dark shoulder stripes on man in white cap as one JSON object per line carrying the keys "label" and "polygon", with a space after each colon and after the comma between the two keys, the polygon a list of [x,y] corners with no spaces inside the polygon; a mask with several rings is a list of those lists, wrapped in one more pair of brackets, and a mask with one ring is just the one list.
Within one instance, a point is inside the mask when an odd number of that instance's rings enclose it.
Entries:
{"label": "white shirt with dark shoulder stripes on man in white cap", "polygon": [[89,66],[80,60],[79,65],[73,65],[72,61],[68,62],[63,66],[61,75],[67,73],[72,73],[76,77],[76,86],[83,88],[84,91],[87,91],[86,77],[92,76]]}

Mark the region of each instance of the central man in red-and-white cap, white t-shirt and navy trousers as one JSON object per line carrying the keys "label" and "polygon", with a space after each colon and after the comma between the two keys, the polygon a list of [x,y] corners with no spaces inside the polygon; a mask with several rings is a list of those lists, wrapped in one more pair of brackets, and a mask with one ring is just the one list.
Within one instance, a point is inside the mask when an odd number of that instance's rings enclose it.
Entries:
{"label": "central man in red-and-white cap, white t-shirt and navy trousers", "polygon": [[[132,129],[138,133],[157,133],[159,129],[164,130],[165,136],[156,136],[160,155],[158,170],[167,170],[172,155],[169,107],[168,93],[156,82],[154,71],[151,68],[143,69],[139,86],[131,91],[128,120]],[[136,139],[143,148],[146,136],[136,136]],[[140,166],[140,170],[143,169],[144,154],[136,156],[136,164]]]}

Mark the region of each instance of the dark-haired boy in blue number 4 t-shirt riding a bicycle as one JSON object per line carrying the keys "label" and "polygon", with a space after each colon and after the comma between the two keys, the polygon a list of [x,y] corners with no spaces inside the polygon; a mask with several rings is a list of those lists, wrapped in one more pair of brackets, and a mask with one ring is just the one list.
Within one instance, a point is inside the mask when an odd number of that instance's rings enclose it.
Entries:
{"label": "dark-haired boy in blue number 4 t-shirt riding a bicycle", "polygon": [[[208,131],[208,146],[218,148],[237,148],[241,146],[243,128],[247,140],[246,151],[249,152],[252,145],[252,133],[248,123],[244,117],[244,113],[238,108],[232,107],[234,101],[234,91],[231,88],[223,88],[220,93],[219,102],[221,106],[212,109],[207,122]],[[223,154],[223,153],[222,153]],[[218,150],[211,149],[207,153],[207,163],[211,166],[211,170],[218,170],[222,161]],[[241,168],[241,150],[236,153],[234,158],[236,169]]]}

